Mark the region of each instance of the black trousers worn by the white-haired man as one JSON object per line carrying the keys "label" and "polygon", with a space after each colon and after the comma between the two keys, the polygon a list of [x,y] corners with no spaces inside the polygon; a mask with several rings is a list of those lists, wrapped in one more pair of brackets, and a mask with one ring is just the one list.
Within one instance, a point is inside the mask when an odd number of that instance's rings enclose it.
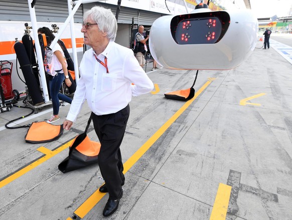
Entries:
{"label": "black trousers worn by the white-haired man", "polygon": [[118,198],[121,185],[125,181],[119,147],[125,133],[129,114],[129,105],[111,114],[96,115],[92,112],[94,130],[101,144],[98,165],[110,199]]}

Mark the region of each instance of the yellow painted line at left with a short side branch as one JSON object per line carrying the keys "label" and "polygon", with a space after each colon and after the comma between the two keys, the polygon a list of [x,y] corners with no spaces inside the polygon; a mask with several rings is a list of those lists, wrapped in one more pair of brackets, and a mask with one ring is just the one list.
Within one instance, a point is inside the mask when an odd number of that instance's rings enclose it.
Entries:
{"label": "yellow painted line at left with a short side branch", "polygon": [[22,176],[23,174],[32,170],[33,168],[37,167],[38,165],[42,164],[43,162],[47,161],[48,159],[55,156],[59,152],[63,151],[64,149],[66,149],[67,147],[69,147],[71,145],[72,141],[73,140],[65,143],[64,145],[58,147],[55,150],[49,150],[44,146],[39,147],[37,150],[39,150],[40,152],[43,152],[46,155],[41,157],[40,159],[34,161],[33,163],[27,165],[26,167],[20,169],[19,171],[13,173],[12,175],[8,176],[7,178],[3,179],[2,181],[0,181],[0,188],[2,188],[3,186],[7,185],[10,182],[12,182],[13,180],[19,178],[20,176]]}

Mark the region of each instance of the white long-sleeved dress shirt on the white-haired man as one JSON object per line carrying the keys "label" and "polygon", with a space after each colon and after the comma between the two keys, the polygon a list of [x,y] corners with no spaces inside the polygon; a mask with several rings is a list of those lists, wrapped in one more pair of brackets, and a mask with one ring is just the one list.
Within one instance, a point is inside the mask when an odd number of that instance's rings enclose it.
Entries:
{"label": "white long-sleeved dress shirt on the white-haired man", "polygon": [[[107,58],[108,73],[94,55],[102,62]],[[103,115],[127,106],[132,95],[145,94],[154,88],[133,51],[114,41],[110,41],[99,55],[92,48],[87,50],[79,69],[80,78],[67,115],[71,121],[76,120],[85,99],[93,113]]]}

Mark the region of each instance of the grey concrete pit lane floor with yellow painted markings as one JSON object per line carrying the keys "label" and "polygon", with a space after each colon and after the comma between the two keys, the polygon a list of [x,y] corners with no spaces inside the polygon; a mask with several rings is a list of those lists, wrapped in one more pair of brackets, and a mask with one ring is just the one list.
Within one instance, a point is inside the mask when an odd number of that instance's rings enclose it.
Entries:
{"label": "grey concrete pit lane floor with yellow painted markings", "polygon": [[[291,63],[273,48],[278,41],[271,37],[266,50],[262,43],[234,69],[199,70],[187,102],[164,93],[189,88],[196,70],[148,65],[156,88],[130,102],[121,145],[124,192],[107,219],[292,219]],[[54,124],[62,124],[69,107],[60,108]],[[14,106],[0,113],[0,220],[103,219],[108,194],[98,191],[98,165],[58,169],[85,129],[87,104],[70,131],[42,144],[25,142],[28,128],[4,126],[30,111]],[[44,107],[10,126],[51,113]],[[92,124],[88,136],[98,141]]]}

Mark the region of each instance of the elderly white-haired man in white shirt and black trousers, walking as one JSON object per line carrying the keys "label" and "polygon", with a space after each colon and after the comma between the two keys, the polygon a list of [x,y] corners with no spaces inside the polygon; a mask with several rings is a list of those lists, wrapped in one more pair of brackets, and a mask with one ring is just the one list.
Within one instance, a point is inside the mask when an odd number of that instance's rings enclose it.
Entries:
{"label": "elderly white-haired man in white shirt and black trousers, walking", "polygon": [[130,113],[131,96],[150,92],[153,82],[143,71],[131,49],[114,42],[117,22],[110,9],[94,6],[83,16],[81,32],[91,46],[80,63],[80,79],[64,129],[70,129],[87,100],[101,147],[98,165],[105,184],[99,188],[109,198],[103,215],[114,213],[125,182],[120,151]]}

